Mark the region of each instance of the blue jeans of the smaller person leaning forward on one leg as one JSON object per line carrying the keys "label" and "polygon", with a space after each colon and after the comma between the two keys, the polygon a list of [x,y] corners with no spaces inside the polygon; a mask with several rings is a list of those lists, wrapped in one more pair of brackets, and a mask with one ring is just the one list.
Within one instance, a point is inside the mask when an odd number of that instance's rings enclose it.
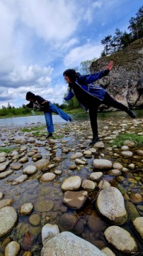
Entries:
{"label": "blue jeans of the smaller person leaning forward on one leg", "polygon": [[54,132],[54,124],[52,122],[52,112],[55,114],[59,114],[62,119],[69,121],[69,114],[66,114],[64,111],[62,111],[59,107],[56,105],[52,104],[51,102],[49,103],[49,107],[47,108],[47,112],[45,112],[45,121],[47,125],[47,132]]}

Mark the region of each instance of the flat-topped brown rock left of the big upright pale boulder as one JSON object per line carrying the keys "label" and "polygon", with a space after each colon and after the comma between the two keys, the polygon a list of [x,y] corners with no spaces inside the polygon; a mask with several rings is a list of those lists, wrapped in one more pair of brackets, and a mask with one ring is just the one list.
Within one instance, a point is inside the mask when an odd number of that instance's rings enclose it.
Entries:
{"label": "flat-topped brown rock left of the big upright pale boulder", "polygon": [[73,209],[80,209],[87,200],[87,191],[67,191],[64,193],[63,203]]}

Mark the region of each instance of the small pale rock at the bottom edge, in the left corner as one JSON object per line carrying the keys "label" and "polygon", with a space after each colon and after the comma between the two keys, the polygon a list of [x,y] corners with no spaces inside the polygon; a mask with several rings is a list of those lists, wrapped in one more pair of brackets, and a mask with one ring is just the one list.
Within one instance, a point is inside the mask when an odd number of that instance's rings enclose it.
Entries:
{"label": "small pale rock at the bottom edge, in the left corner", "polygon": [[16,241],[9,242],[8,245],[6,245],[4,255],[16,256],[18,255],[18,252],[20,251],[20,249],[21,249],[21,245],[18,242]]}

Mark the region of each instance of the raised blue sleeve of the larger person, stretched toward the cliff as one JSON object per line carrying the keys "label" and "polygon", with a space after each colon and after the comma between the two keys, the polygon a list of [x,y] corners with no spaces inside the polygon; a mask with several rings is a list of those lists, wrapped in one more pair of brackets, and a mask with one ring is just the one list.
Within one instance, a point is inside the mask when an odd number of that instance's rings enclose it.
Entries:
{"label": "raised blue sleeve of the larger person, stretched toward the cliff", "polygon": [[105,75],[108,75],[109,72],[110,72],[109,70],[103,70],[101,72],[96,72],[90,75],[79,75],[79,77],[77,78],[77,81],[82,85],[86,85],[91,82],[95,82],[98,79],[103,78]]}

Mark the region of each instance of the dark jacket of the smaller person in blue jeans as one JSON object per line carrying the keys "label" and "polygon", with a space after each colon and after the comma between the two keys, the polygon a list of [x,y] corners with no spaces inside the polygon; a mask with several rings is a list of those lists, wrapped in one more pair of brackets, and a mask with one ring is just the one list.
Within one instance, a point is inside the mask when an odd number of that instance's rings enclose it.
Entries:
{"label": "dark jacket of the smaller person in blue jeans", "polygon": [[34,101],[30,101],[25,107],[33,108],[34,110],[44,111],[47,112],[50,102],[46,102],[42,105],[42,102],[45,102],[45,99],[40,97],[39,95],[34,95]]}

